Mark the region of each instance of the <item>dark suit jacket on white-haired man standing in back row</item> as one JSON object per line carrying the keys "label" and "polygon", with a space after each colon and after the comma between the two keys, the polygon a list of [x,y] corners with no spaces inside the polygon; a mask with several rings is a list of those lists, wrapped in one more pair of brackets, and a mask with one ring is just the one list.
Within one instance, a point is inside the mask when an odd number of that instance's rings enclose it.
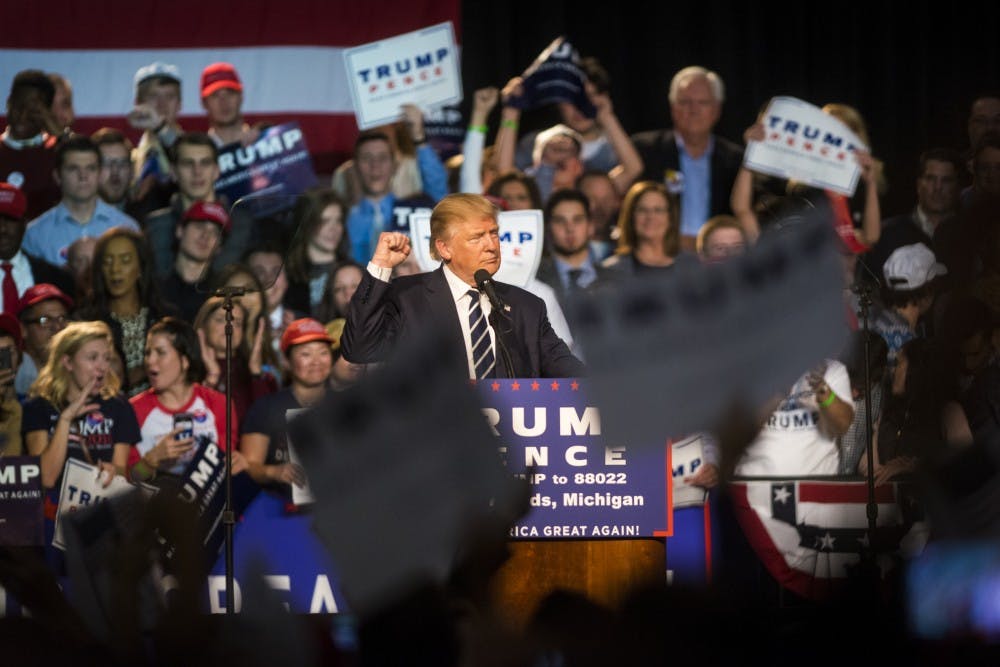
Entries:
{"label": "dark suit jacket on white-haired man standing in back row", "polygon": [[[681,159],[673,130],[651,130],[632,136],[632,143],[646,165],[640,180],[663,183],[668,169],[680,171]],[[743,162],[743,148],[722,137],[715,137],[712,150],[712,193],[709,198],[709,215],[732,214],[729,195],[733,191],[736,172]],[[668,188],[669,189],[669,188]]]}

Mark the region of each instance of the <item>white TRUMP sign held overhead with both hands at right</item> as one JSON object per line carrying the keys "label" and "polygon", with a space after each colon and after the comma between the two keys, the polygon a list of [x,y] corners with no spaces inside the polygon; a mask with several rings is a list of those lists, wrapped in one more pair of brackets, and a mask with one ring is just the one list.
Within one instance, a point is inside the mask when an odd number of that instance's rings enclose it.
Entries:
{"label": "white TRUMP sign held overhead with both hands at right", "polygon": [[868,147],[846,125],[794,97],[772,99],[762,122],[767,136],[747,146],[747,169],[854,194],[861,169],[853,153]]}

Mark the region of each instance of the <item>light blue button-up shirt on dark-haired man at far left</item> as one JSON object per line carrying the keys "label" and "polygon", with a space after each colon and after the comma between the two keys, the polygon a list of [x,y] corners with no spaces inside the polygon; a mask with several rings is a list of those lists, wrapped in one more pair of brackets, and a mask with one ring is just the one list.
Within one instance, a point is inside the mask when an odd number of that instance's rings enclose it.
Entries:
{"label": "light blue button-up shirt on dark-haired man at far left", "polygon": [[56,266],[66,265],[70,245],[77,239],[96,237],[112,227],[139,231],[136,221],[100,199],[94,214],[84,224],[77,222],[60,202],[28,223],[21,250]]}

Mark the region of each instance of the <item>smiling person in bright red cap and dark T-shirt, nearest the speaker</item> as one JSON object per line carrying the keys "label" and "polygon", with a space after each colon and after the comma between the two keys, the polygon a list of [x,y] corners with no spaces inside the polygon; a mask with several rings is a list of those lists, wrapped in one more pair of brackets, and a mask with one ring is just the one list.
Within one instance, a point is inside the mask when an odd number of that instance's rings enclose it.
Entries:
{"label": "smiling person in bright red cap and dark T-shirt, nearest the speaker", "polygon": [[329,391],[333,339],[311,317],[295,320],[281,336],[289,384],[254,402],[242,425],[240,451],[250,476],[265,489],[291,499],[291,484],[303,486],[305,473],[289,460],[287,412],[319,403]]}

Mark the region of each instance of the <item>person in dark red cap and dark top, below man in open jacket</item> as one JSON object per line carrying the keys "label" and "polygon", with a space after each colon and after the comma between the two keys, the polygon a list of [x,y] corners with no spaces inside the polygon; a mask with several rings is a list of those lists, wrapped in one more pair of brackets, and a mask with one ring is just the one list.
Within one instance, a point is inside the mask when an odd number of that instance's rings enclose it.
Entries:
{"label": "person in dark red cap and dark top, below man in open jacket", "polygon": [[160,291],[188,322],[194,322],[209,296],[212,260],[229,234],[230,224],[224,206],[205,201],[191,204],[177,223],[177,257],[173,271],[160,283]]}

